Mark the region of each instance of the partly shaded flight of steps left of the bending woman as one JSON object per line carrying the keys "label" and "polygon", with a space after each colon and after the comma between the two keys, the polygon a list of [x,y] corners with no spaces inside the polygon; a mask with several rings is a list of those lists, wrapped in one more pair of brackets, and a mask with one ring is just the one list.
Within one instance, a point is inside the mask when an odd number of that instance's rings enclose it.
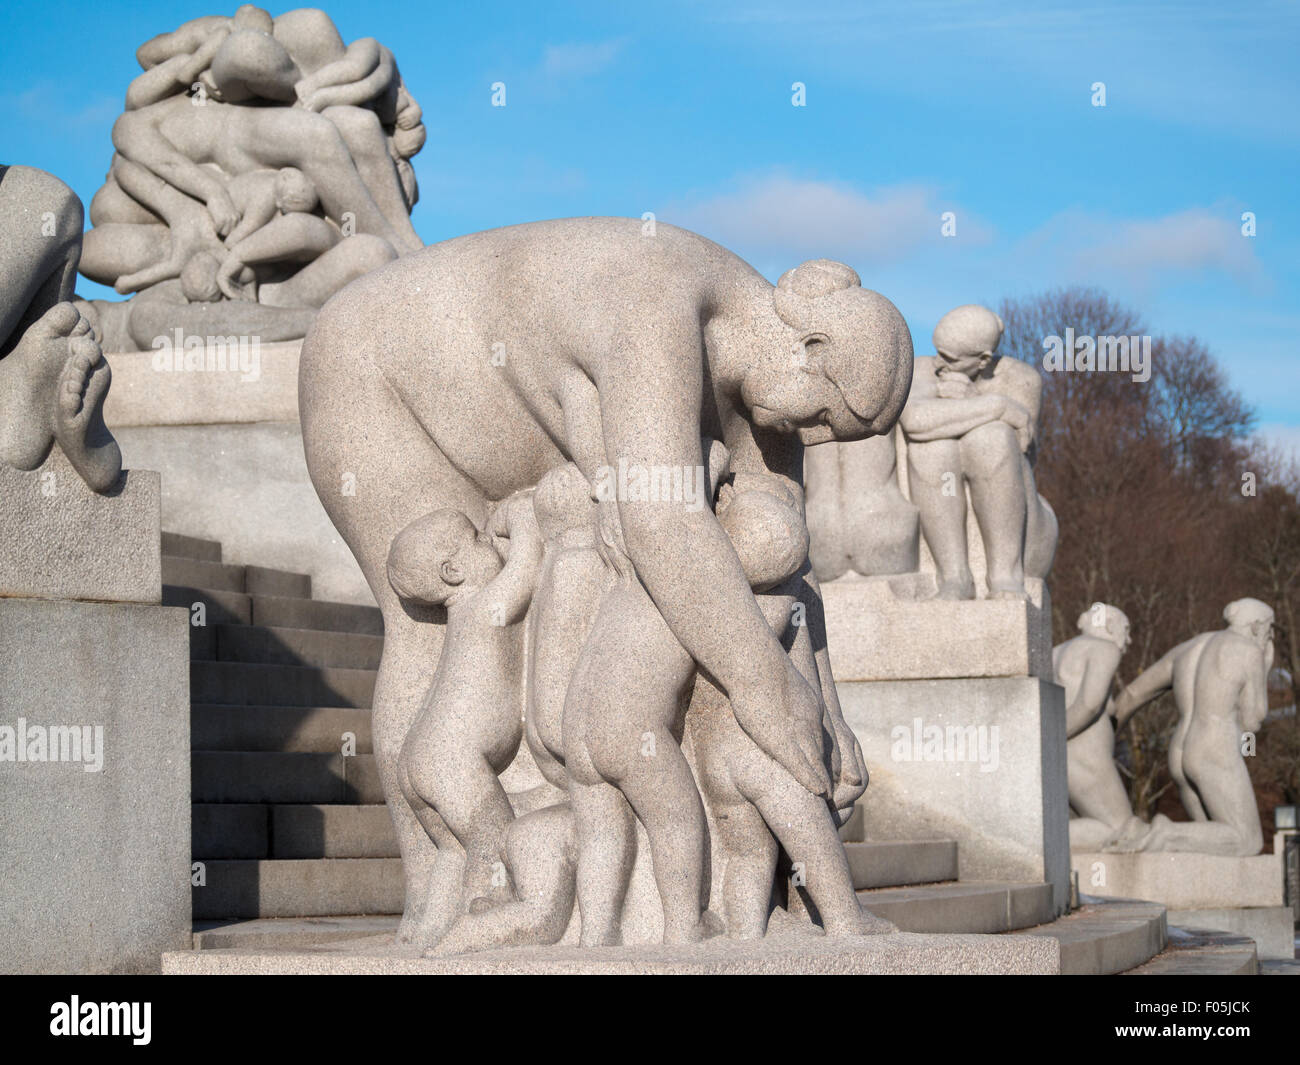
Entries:
{"label": "partly shaded flight of steps left of the bending woman", "polygon": [[190,627],[195,919],[398,912],[370,743],[378,609],[312,599],[303,573],[224,564],[220,544],[172,533],[162,602],[205,611]]}

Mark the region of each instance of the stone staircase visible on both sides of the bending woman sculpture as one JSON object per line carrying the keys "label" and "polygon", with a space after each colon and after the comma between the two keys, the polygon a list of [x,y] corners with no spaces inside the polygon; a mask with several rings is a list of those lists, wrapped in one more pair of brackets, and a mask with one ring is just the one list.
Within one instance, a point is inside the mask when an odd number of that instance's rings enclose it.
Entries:
{"label": "stone staircase visible on both sides of the bending woman sculpture", "polygon": [[[391,932],[402,867],[370,741],[384,644],[374,607],[311,598],[311,579],[221,560],[162,534],[162,602],[191,625],[196,949],[311,948]],[[841,836],[859,897],[905,932],[1053,936],[1063,973],[1254,973],[1254,944],[1170,939],[1162,906],[1084,900],[1053,919],[1041,883],[958,880],[952,840]],[[1178,930],[1175,930],[1176,932]]]}

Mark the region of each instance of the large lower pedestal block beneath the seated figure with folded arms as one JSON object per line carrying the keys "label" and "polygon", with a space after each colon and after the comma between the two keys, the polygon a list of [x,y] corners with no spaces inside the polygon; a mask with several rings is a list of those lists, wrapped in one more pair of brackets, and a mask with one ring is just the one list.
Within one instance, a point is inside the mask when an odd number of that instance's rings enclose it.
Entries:
{"label": "large lower pedestal block beneath the seated figure with folded arms", "polygon": [[957,840],[963,880],[1052,884],[1069,905],[1065,697],[1031,676],[841,679],[845,720],[871,774],[868,840]]}

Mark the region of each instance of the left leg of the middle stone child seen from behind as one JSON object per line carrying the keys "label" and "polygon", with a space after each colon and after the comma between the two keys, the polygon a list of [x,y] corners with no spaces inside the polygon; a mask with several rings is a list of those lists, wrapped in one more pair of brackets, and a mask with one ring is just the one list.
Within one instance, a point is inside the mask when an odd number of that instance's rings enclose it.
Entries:
{"label": "left leg of the middle stone child seen from behind", "polygon": [[623,793],[603,780],[569,782],[577,826],[577,905],[581,944],[614,947],[623,941],[623,901],[637,856],[636,824]]}

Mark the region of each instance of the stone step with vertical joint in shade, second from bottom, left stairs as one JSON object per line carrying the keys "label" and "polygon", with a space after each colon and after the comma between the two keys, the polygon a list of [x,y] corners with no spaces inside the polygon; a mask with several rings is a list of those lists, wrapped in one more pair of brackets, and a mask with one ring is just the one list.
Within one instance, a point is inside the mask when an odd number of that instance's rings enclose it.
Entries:
{"label": "stone step with vertical joint in shade, second from bottom, left stairs", "polygon": [[191,850],[212,858],[396,858],[389,808],[195,802]]}

